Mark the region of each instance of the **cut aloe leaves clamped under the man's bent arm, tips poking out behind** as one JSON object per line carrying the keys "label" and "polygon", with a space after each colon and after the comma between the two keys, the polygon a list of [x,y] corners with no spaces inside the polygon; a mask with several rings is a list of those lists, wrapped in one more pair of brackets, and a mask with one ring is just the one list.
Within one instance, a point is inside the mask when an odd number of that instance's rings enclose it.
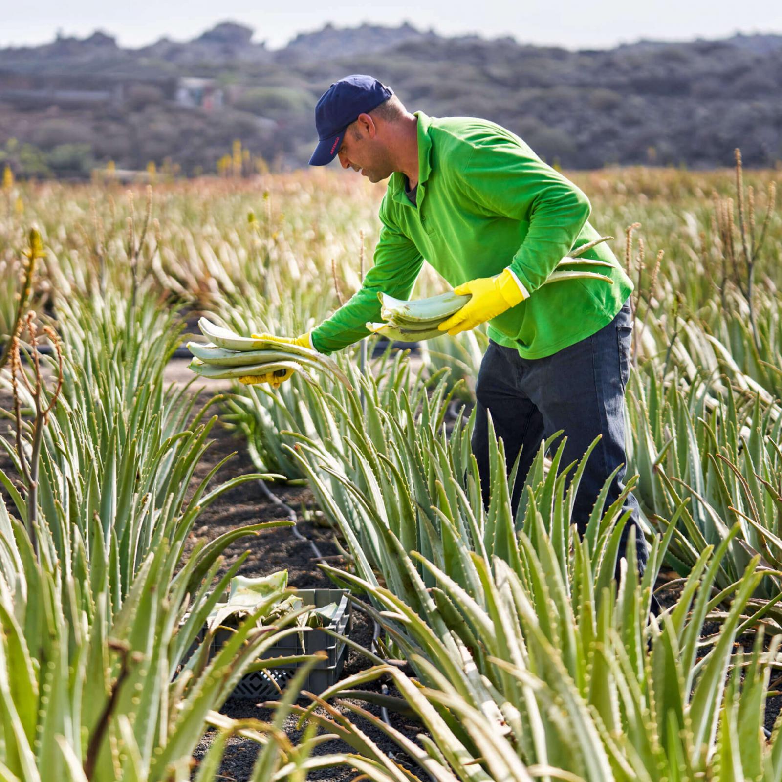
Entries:
{"label": "cut aloe leaves clamped under the man's bent arm, tips poking out behind", "polygon": [[[572,279],[600,280],[612,285],[612,278],[605,274],[598,274],[596,271],[588,271],[583,267],[614,267],[615,264],[608,260],[580,257],[587,250],[609,239],[613,239],[613,236],[601,236],[594,242],[573,249],[568,256],[560,260],[556,270],[548,276],[543,285]],[[470,300],[470,296],[457,296],[453,291],[449,291],[439,296],[431,296],[429,299],[404,301],[381,292],[378,293],[378,299],[381,303],[380,317],[383,322],[368,323],[368,330],[373,334],[399,342],[420,342],[423,339],[442,336],[445,332],[439,330],[439,325],[461,310]]]}

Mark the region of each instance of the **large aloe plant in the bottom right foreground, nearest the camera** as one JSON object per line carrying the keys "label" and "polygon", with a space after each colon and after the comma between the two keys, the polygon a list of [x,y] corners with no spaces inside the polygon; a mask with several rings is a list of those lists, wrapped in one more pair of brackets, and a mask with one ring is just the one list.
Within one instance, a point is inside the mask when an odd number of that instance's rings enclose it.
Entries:
{"label": "large aloe plant in the bottom right foreground, nearest the camera", "polygon": [[[770,741],[763,723],[779,637],[766,645],[761,631],[751,651],[734,653],[737,637],[752,624],[752,612],[746,613],[759,580],[757,561],[734,584],[719,634],[699,647],[724,547],[705,552],[680,601],[650,624],[638,610],[646,599],[632,567],[618,594],[604,588],[598,597],[592,565],[614,533],[608,525],[594,552],[576,542],[564,570],[545,531],[536,530],[535,547],[522,534],[515,567],[475,557],[480,595],[465,593],[428,565],[438,587],[429,590],[434,599],[423,615],[390,590],[343,575],[378,604],[380,610],[368,610],[386,631],[405,638],[418,681],[394,665],[376,665],[317,702],[343,691],[360,698],[356,687],[390,678],[401,697],[396,708],[406,705],[427,729],[423,751],[350,701],[336,703],[388,734],[408,762],[438,779],[723,779],[730,758],[727,778],[776,780],[782,719]],[[663,548],[655,544],[651,561],[661,561]],[[418,588],[425,591],[423,583]],[[381,766],[382,753],[339,712],[300,713]],[[407,779],[401,766],[382,772],[371,778]]]}

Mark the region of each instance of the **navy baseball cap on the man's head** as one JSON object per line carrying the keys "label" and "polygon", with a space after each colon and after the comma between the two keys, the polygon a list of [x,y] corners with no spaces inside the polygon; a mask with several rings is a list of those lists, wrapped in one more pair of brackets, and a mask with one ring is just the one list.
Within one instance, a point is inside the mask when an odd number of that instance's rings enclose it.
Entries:
{"label": "navy baseball cap on the man's head", "polygon": [[393,90],[371,76],[353,74],[335,81],[315,106],[317,147],[310,157],[310,166],[325,166],[334,160],[343,142],[345,128],[388,100]]}

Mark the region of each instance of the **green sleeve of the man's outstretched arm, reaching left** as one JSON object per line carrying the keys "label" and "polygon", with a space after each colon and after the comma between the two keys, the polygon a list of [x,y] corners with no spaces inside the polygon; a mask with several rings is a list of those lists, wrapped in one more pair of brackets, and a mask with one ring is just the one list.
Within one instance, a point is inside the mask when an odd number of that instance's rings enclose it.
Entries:
{"label": "green sleeve of the man's outstretched arm, reaching left", "polygon": [[379,292],[407,299],[413,290],[424,259],[412,240],[389,221],[383,206],[374,263],[364,276],[361,289],[312,332],[313,346],[321,353],[342,350],[369,334],[365,324],[380,320]]}

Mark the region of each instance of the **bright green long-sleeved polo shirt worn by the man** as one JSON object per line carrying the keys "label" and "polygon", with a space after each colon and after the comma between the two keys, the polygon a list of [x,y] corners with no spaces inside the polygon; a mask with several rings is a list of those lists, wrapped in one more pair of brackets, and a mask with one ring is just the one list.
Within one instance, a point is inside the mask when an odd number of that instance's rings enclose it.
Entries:
{"label": "bright green long-sleeved polo shirt worn by the man", "polygon": [[361,289],[314,329],[315,348],[333,353],[367,336],[364,324],[380,320],[378,292],[410,298],[424,260],[452,287],[511,267],[529,298],[493,318],[489,336],[524,358],[550,356],[610,323],[633,283],[607,243],[583,258],[610,261],[610,269],[591,271],[607,274],[612,285],[543,285],[563,256],[599,236],[587,222],[587,196],[500,125],[415,116],[416,203],[405,195],[404,174],[392,174],[374,265]]}

